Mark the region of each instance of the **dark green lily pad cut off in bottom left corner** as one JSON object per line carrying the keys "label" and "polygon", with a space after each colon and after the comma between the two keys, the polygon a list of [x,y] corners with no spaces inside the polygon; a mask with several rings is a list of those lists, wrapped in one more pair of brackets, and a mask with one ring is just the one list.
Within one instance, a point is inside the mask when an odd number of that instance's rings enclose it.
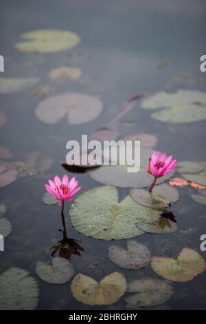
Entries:
{"label": "dark green lily pad cut off in bottom left corner", "polygon": [[27,271],[10,267],[0,275],[0,296],[0,310],[34,310],[38,285]]}

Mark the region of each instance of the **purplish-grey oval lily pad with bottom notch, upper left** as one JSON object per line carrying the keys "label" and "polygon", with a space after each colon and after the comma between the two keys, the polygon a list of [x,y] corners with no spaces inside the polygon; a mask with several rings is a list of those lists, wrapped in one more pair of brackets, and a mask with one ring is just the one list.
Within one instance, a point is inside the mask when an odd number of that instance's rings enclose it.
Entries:
{"label": "purplish-grey oval lily pad with bottom notch, upper left", "polygon": [[88,123],[102,112],[102,102],[88,94],[65,93],[49,97],[35,109],[36,117],[44,123],[58,123],[64,117],[72,125]]}

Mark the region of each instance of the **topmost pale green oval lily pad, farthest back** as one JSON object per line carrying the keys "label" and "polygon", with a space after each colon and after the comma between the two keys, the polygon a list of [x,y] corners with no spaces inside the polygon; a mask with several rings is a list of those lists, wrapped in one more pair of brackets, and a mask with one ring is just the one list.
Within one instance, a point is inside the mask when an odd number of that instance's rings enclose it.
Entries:
{"label": "topmost pale green oval lily pad, farthest back", "polygon": [[80,43],[80,37],[68,30],[35,30],[21,35],[22,42],[14,47],[21,52],[51,53],[68,50]]}

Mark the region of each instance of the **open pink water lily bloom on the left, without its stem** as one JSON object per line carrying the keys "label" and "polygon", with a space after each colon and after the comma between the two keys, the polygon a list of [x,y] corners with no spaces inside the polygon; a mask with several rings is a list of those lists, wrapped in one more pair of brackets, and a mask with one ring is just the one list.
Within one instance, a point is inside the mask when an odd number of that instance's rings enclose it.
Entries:
{"label": "open pink water lily bloom on the left, without its stem", "polygon": [[60,200],[58,205],[62,205],[62,201],[73,201],[72,196],[80,191],[81,187],[78,187],[78,181],[75,179],[75,176],[69,178],[67,174],[62,177],[62,181],[59,176],[54,176],[54,181],[48,179],[49,185],[45,184],[45,188],[49,194],[52,194],[56,199]]}

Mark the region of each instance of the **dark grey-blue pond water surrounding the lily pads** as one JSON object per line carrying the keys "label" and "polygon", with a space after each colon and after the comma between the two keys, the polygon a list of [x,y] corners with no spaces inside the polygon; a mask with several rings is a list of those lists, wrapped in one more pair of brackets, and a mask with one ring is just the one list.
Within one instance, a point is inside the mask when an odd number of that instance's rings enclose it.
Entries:
{"label": "dark grey-blue pond water surrounding the lily pads", "polygon": [[[92,134],[108,125],[124,108],[133,94],[144,92],[176,92],[179,89],[205,91],[205,75],[200,72],[199,59],[205,54],[205,1],[1,1],[0,54],[5,59],[5,72],[0,77],[36,77],[40,81],[25,90],[1,94],[1,110],[7,121],[0,128],[0,145],[12,152],[8,161],[25,162],[32,152],[38,159],[49,157],[49,170],[32,176],[20,176],[15,182],[0,188],[5,218],[12,232],[5,238],[1,253],[0,272],[10,267],[27,270],[38,283],[39,310],[125,310],[124,296],[113,305],[89,306],[73,298],[70,282],[63,285],[45,283],[35,272],[36,263],[52,260],[49,247],[62,234],[60,207],[45,205],[44,184],[48,177],[62,176],[65,170],[66,143],[80,140],[82,134]],[[80,43],[71,49],[38,54],[21,52],[14,43],[21,34],[33,30],[60,29],[76,32]],[[51,70],[70,66],[82,70],[80,78],[49,79]],[[35,88],[47,85],[49,93],[35,95]],[[38,90],[37,90],[38,92]],[[82,125],[69,125],[67,118],[58,123],[39,121],[34,110],[43,99],[61,92],[90,94],[102,101],[100,117]],[[192,123],[163,123],[152,119],[150,110],[141,109],[141,99],[134,109],[119,121],[122,136],[149,133],[157,136],[157,149],[175,156],[178,161],[205,161],[205,121]],[[82,192],[101,184],[87,172],[68,172],[76,176]],[[206,234],[205,206],[195,203],[189,186],[177,188],[179,201],[170,207],[176,217],[178,230],[171,234],[142,234],[135,241],[145,244],[152,256],[176,259],[183,247],[200,250],[200,237]],[[120,199],[129,190],[119,188]],[[161,279],[148,265],[141,270],[126,270],[108,259],[111,244],[126,248],[126,240],[104,241],[80,234],[71,225],[65,204],[65,221],[69,238],[80,241],[84,249],[80,256],[71,256],[75,274],[81,273],[100,281],[112,272],[132,279]],[[92,208],[92,203],[91,203]],[[84,217],[84,214],[82,214]],[[174,282],[174,294],[166,303],[148,309],[197,310],[206,308],[206,272],[192,281]]]}

